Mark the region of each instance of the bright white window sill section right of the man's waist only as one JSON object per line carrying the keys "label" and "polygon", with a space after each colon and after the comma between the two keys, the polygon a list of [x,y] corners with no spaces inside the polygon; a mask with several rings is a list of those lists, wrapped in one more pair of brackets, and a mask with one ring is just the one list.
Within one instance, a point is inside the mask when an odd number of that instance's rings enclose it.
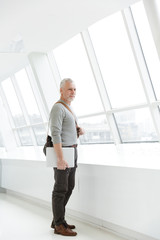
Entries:
{"label": "bright white window sill section right of the man's waist only", "polygon": [[78,163],[160,169],[160,143],[80,145]]}

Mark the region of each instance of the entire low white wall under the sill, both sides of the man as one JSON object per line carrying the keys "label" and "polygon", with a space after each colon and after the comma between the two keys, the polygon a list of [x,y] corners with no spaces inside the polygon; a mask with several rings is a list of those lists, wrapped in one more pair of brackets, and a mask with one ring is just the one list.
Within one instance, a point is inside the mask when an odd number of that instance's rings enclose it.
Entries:
{"label": "entire low white wall under the sill, both sides of the man", "polygon": [[[2,160],[3,188],[50,205],[53,182],[45,162]],[[129,239],[160,239],[159,189],[160,170],[79,164],[68,213]]]}

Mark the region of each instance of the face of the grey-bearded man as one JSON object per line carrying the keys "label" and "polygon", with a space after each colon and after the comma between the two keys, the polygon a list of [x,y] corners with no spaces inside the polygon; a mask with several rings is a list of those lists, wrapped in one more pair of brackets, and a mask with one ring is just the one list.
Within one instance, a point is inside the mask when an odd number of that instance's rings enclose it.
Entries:
{"label": "face of the grey-bearded man", "polygon": [[65,102],[71,102],[76,96],[76,86],[74,83],[66,82],[65,85],[60,89],[61,98]]}

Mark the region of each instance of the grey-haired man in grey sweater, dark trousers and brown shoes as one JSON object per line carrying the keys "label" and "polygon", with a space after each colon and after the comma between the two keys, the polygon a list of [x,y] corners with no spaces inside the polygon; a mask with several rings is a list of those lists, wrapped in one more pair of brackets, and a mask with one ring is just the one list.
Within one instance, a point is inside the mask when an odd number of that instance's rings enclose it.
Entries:
{"label": "grey-haired man in grey sweater, dark trousers and brown shoes", "polygon": [[[76,236],[65,221],[65,206],[72,194],[75,185],[75,172],[77,167],[77,132],[84,134],[83,129],[77,126],[75,116],[70,108],[76,95],[74,82],[67,78],[60,83],[60,100],[54,104],[50,114],[50,129],[54,150],[57,156],[57,168],[54,168],[55,184],[52,192],[53,221],[51,227],[56,234]],[[75,167],[68,168],[65,161],[63,147],[73,147],[75,153]]]}

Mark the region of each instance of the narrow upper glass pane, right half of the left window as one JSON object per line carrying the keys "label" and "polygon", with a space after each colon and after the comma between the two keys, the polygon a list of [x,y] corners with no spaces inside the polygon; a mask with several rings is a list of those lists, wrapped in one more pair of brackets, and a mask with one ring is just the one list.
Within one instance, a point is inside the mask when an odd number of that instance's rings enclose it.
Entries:
{"label": "narrow upper glass pane, right half of the left window", "polygon": [[15,74],[31,124],[42,122],[38,106],[25,69]]}

